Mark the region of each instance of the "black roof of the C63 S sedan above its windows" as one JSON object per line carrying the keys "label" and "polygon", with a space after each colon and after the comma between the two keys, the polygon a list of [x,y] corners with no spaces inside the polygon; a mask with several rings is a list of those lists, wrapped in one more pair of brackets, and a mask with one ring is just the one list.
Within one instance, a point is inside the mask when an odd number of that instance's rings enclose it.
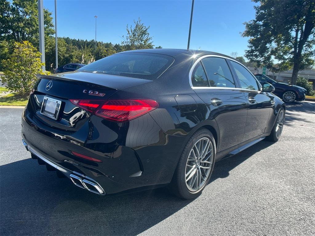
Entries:
{"label": "black roof of the C63 S sedan above its windows", "polygon": [[[205,50],[187,50],[187,49],[172,49],[172,48],[152,48],[152,49],[138,49],[138,50],[131,50],[131,51],[124,51],[120,53],[157,53],[157,54],[164,54],[169,55],[172,57],[176,57],[179,55],[187,55],[187,57],[190,57],[192,55],[198,54],[198,56],[204,56],[204,55],[218,55],[218,56],[224,56],[230,59],[235,60],[235,58],[232,58],[230,56],[216,53],[216,52],[210,52]],[[120,54],[117,53],[117,54]]]}

